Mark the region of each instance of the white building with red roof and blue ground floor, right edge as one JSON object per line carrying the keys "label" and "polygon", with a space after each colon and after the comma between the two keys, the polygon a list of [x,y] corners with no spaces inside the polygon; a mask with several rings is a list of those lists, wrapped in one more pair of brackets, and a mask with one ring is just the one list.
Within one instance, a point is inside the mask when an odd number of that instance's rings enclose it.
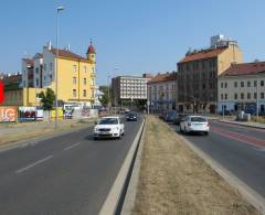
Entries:
{"label": "white building with red roof and blue ground floor, right edge", "polygon": [[232,64],[219,76],[219,112],[265,114],[265,62]]}

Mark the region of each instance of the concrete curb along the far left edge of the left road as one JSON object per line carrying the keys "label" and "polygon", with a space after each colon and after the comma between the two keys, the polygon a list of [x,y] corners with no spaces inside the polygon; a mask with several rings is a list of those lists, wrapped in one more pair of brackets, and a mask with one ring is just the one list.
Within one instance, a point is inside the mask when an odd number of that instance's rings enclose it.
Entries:
{"label": "concrete curb along the far left edge of the left road", "polygon": [[4,152],[4,151],[12,150],[12,149],[15,149],[15,148],[23,148],[23,147],[26,147],[26,146],[30,146],[30,144],[38,144],[40,141],[56,138],[56,137],[60,137],[60,136],[63,136],[63,135],[66,135],[66,133],[72,133],[72,132],[75,132],[75,131],[78,131],[78,130],[82,130],[82,129],[89,128],[92,126],[93,126],[93,123],[88,123],[84,127],[66,129],[66,130],[59,131],[59,132],[55,132],[55,133],[46,133],[42,137],[34,137],[34,138],[29,138],[29,139],[25,139],[25,140],[20,140],[20,141],[2,144],[2,146],[0,146],[0,153]]}

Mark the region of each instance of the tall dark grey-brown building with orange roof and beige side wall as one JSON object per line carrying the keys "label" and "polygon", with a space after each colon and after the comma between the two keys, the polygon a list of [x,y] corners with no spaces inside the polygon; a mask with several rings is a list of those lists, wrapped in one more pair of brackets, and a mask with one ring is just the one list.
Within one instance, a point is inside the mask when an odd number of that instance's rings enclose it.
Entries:
{"label": "tall dark grey-brown building with orange roof and beige side wall", "polygon": [[180,112],[218,111],[218,76],[232,63],[242,63],[235,41],[211,40],[205,50],[189,51],[178,63],[178,104]]}

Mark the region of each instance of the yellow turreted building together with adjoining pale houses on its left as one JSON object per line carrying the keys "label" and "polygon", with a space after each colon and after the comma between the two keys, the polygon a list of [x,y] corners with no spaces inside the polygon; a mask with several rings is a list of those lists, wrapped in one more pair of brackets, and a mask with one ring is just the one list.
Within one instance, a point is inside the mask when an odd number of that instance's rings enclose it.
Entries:
{"label": "yellow turreted building together with adjoining pale houses on its left", "polygon": [[94,104],[96,52],[92,43],[86,57],[68,49],[56,50],[49,43],[43,46],[42,53],[22,60],[22,74],[24,88],[52,88],[56,92],[57,83],[59,104],[75,104],[80,107]]}

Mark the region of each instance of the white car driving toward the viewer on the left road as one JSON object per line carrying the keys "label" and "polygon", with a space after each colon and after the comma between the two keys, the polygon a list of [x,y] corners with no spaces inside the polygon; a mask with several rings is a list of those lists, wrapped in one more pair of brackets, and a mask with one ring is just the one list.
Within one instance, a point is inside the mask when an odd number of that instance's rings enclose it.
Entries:
{"label": "white car driving toward the viewer on the left road", "polygon": [[94,139],[121,138],[125,129],[119,117],[103,117],[94,128]]}

